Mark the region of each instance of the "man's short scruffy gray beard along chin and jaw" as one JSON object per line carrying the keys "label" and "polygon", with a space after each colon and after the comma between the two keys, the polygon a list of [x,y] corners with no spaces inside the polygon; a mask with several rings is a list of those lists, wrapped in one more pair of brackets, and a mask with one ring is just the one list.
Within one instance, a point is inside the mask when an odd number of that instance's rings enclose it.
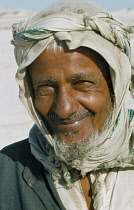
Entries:
{"label": "man's short scruffy gray beard along chin and jaw", "polygon": [[[78,142],[73,143],[67,143],[64,141],[60,141],[57,136],[55,135],[53,137],[54,142],[54,151],[56,153],[56,156],[60,158],[61,161],[66,163],[68,166],[73,166],[75,162],[79,163],[80,165],[83,163],[84,159],[93,154],[95,151],[95,148],[98,144],[98,140],[100,139],[100,136],[103,134],[103,132],[108,129],[111,118],[113,113],[113,107],[109,108],[109,114],[107,115],[105,119],[105,123],[99,132],[98,130],[94,130],[92,134],[87,137],[86,139],[81,139]],[[74,132],[67,132],[64,134],[65,136],[72,136],[75,135]],[[80,168],[77,164],[77,169]]]}

